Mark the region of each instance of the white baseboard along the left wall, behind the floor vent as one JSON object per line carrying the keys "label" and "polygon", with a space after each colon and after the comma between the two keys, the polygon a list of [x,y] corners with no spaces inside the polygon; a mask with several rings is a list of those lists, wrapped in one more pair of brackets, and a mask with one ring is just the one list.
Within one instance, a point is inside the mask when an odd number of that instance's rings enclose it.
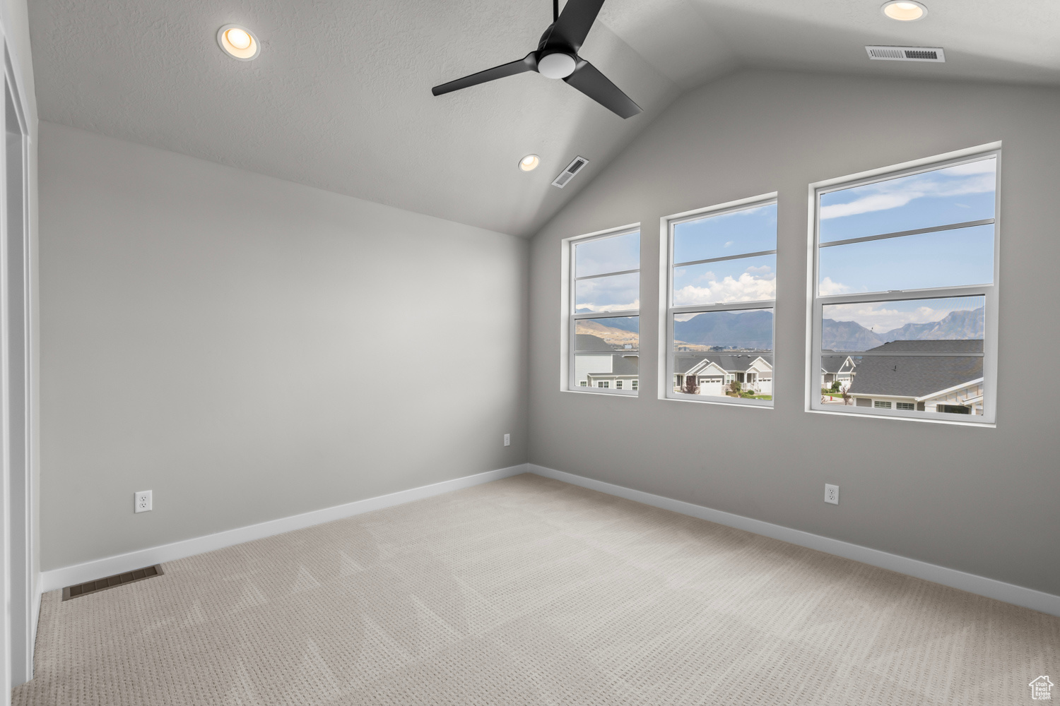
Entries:
{"label": "white baseboard along the left wall, behind the floor vent", "polygon": [[500,478],[507,478],[511,475],[518,475],[519,473],[526,472],[527,465],[519,464],[518,466],[499,468],[495,471],[487,471],[484,473],[476,473],[474,475],[464,475],[459,478],[443,481],[429,486],[420,486],[419,488],[411,488],[410,490],[401,490],[388,495],[379,495],[378,497],[369,497],[367,500],[359,500],[344,505],[336,505],[335,507],[329,507],[322,510],[313,510],[312,512],[295,514],[289,518],[270,520],[257,525],[228,529],[215,535],[195,537],[189,540],[173,542],[172,544],[163,544],[161,546],[129,551],[128,554],[86,561],[83,564],[53,568],[51,571],[40,573],[40,580],[37,582],[37,585],[39,586],[38,596],[39,594],[55,591],[56,589],[61,589],[63,586],[84,583],[85,581],[91,581],[92,579],[99,579],[105,576],[113,576],[114,574],[132,571],[134,568],[140,568],[141,566],[151,566],[152,564],[160,564],[166,561],[183,559],[184,557],[202,554],[204,551],[213,551],[214,549],[222,549],[227,546],[232,546],[233,544],[242,544],[243,542],[249,542],[263,537],[271,537],[273,535],[289,532],[293,529],[312,527],[313,525],[319,525],[324,522],[332,522],[333,520],[341,520],[342,518],[361,514],[363,512],[371,512],[372,510],[379,510],[393,505],[410,503],[414,500],[440,495],[453,490],[470,488],[471,486],[490,483],[491,481],[499,481]]}

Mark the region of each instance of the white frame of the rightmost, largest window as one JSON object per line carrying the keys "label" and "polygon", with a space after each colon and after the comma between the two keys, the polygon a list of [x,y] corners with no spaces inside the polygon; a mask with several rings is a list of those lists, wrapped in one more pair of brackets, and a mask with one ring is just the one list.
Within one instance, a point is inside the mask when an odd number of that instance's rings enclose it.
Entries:
{"label": "white frame of the rightmost, largest window", "polygon": [[[807,387],[806,387],[806,410],[807,412],[820,413],[820,414],[841,414],[841,415],[853,415],[853,416],[865,416],[865,417],[881,417],[888,419],[904,419],[913,421],[926,421],[933,423],[943,423],[943,424],[959,424],[967,427],[982,427],[982,428],[993,428],[996,421],[996,396],[997,396],[997,292],[999,292],[999,275],[1001,272],[1001,174],[1002,174],[1002,155],[1001,155],[1001,142],[994,142],[986,145],[979,145],[977,147],[970,147],[968,149],[960,149],[953,152],[947,152],[944,155],[938,155],[935,157],[929,157],[920,160],[915,160],[912,162],[905,162],[903,164],[897,164],[894,166],[882,167],[879,169],[871,169],[868,171],[862,171],[860,174],[849,175],[846,177],[837,177],[835,179],[827,179],[825,181],[814,182],[809,185],[809,250],[808,259],[809,267],[807,267]],[[817,284],[820,282],[819,275],[819,253],[817,240],[819,237],[819,209],[820,209],[820,194],[828,192],[841,191],[844,188],[850,188],[853,186],[861,186],[864,184],[869,184],[878,182],[884,179],[895,179],[898,177],[906,177],[914,174],[924,174],[928,171],[935,171],[937,169],[954,166],[956,164],[967,164],[969,162],[976,162],[982,159],[993,157],[996,162],[996,173],[995,173],[995,191],[994,191],[994,253],[993,253],[993,283],[988,285],[964,285],[957,287],[933,287],[924,289],[905,289],[905,290],[891,290],[887,292],[872,292],[863,294],[833,294],[828,296],[820,296],[817,294]],[[980,223],[980,221],[970,221],[973,223]],[[985,221],[989,222],[989,221]],[[982,222],[985,224],[985,222]],[[946,230],[954,230],[954,224],[938,227],[938,228],[926,228],[916,231],[916,233],[933,233],[941,232]],[[893,234],[882,234],[882,235],[893,235]],[[876,236],[873,236],[876,237]],[[934,300],[934,298],[948,298],[955,296],[983,296],[985,297],[985,328],[984,328],[984,340],[983,340],[983,352],[974,354],[975,356],[983,357],[983,383],[984,383],[984,399],[983,399],[983,415],[972,416],[969,420],[968,415],[956,415],[956,414],[946,414],[939,412],[920,412],[919,410],[878,410],[874,406],[858,406],[856,404],[845,406],[842,411],[838,411],[834,405],[824,405],[820,402],[820,395],[814,394],[818,388],[813,386],[813,370],[820,368],[820,356],[822,356],[822,314],[824,307],[830,304],[858,304],[858,303],[869,303],[869,302],[890,302],[890,301],[902,301],[907,302],[909,300]],[[853,354],[850,354],[853,355]],[[876,355],[918,355],[918,354],[876,354]],[[933,355],[933,354],[919,354],[919,355]],[[941,354],[934,354],[941,355]],[[956,355],[956,354],[954,354]],[[960,354],[961,356],[967,356],[969,354]],[[856,368],[854,368],[856,381]],[[818,374],[819,378],[819,374]]]}

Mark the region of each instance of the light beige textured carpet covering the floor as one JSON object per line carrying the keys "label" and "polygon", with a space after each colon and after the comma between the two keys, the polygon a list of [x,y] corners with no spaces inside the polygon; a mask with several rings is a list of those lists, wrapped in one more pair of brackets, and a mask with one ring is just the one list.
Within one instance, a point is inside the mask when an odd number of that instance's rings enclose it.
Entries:
{"label": "light beige textured carpet covering the floor", "polygon": [[1060,681],[1060,618],[534,475],[164,568],[45,596],[14,703],[994,706]]}

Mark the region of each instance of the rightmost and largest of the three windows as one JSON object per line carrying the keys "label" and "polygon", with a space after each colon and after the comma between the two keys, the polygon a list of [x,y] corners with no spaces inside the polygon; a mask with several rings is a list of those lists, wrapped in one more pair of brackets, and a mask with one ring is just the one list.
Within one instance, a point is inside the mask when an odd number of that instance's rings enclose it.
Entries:
{"label": "rightmost and largest of the three windows", "polygon": [[1000,159],[966,150],[814,185],[811,369],[853,368],[847,399],[810,396],[811,410],[993,422]]}

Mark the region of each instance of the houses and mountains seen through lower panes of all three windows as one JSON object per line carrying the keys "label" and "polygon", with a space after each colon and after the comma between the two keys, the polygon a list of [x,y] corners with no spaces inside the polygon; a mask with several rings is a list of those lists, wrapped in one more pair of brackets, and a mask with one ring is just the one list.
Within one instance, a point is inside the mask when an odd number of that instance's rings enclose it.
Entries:
{"label": "houses and mountains seen through lower panes of all three windows", "polygon": [[[701,318],[705,320],[696,321]],[[820,358],[822,402],[980,415],[983,325],[983,307],[879,333],[855,321],[824,320],[823,341],[829,347]],[[708,312],[675,321],[673,392],[772,399],[773,350],[754,345],[768,342],[772,328],[768,310]],[[579,321],[576,333],[578,385],[638,390],[636,316]]]}

